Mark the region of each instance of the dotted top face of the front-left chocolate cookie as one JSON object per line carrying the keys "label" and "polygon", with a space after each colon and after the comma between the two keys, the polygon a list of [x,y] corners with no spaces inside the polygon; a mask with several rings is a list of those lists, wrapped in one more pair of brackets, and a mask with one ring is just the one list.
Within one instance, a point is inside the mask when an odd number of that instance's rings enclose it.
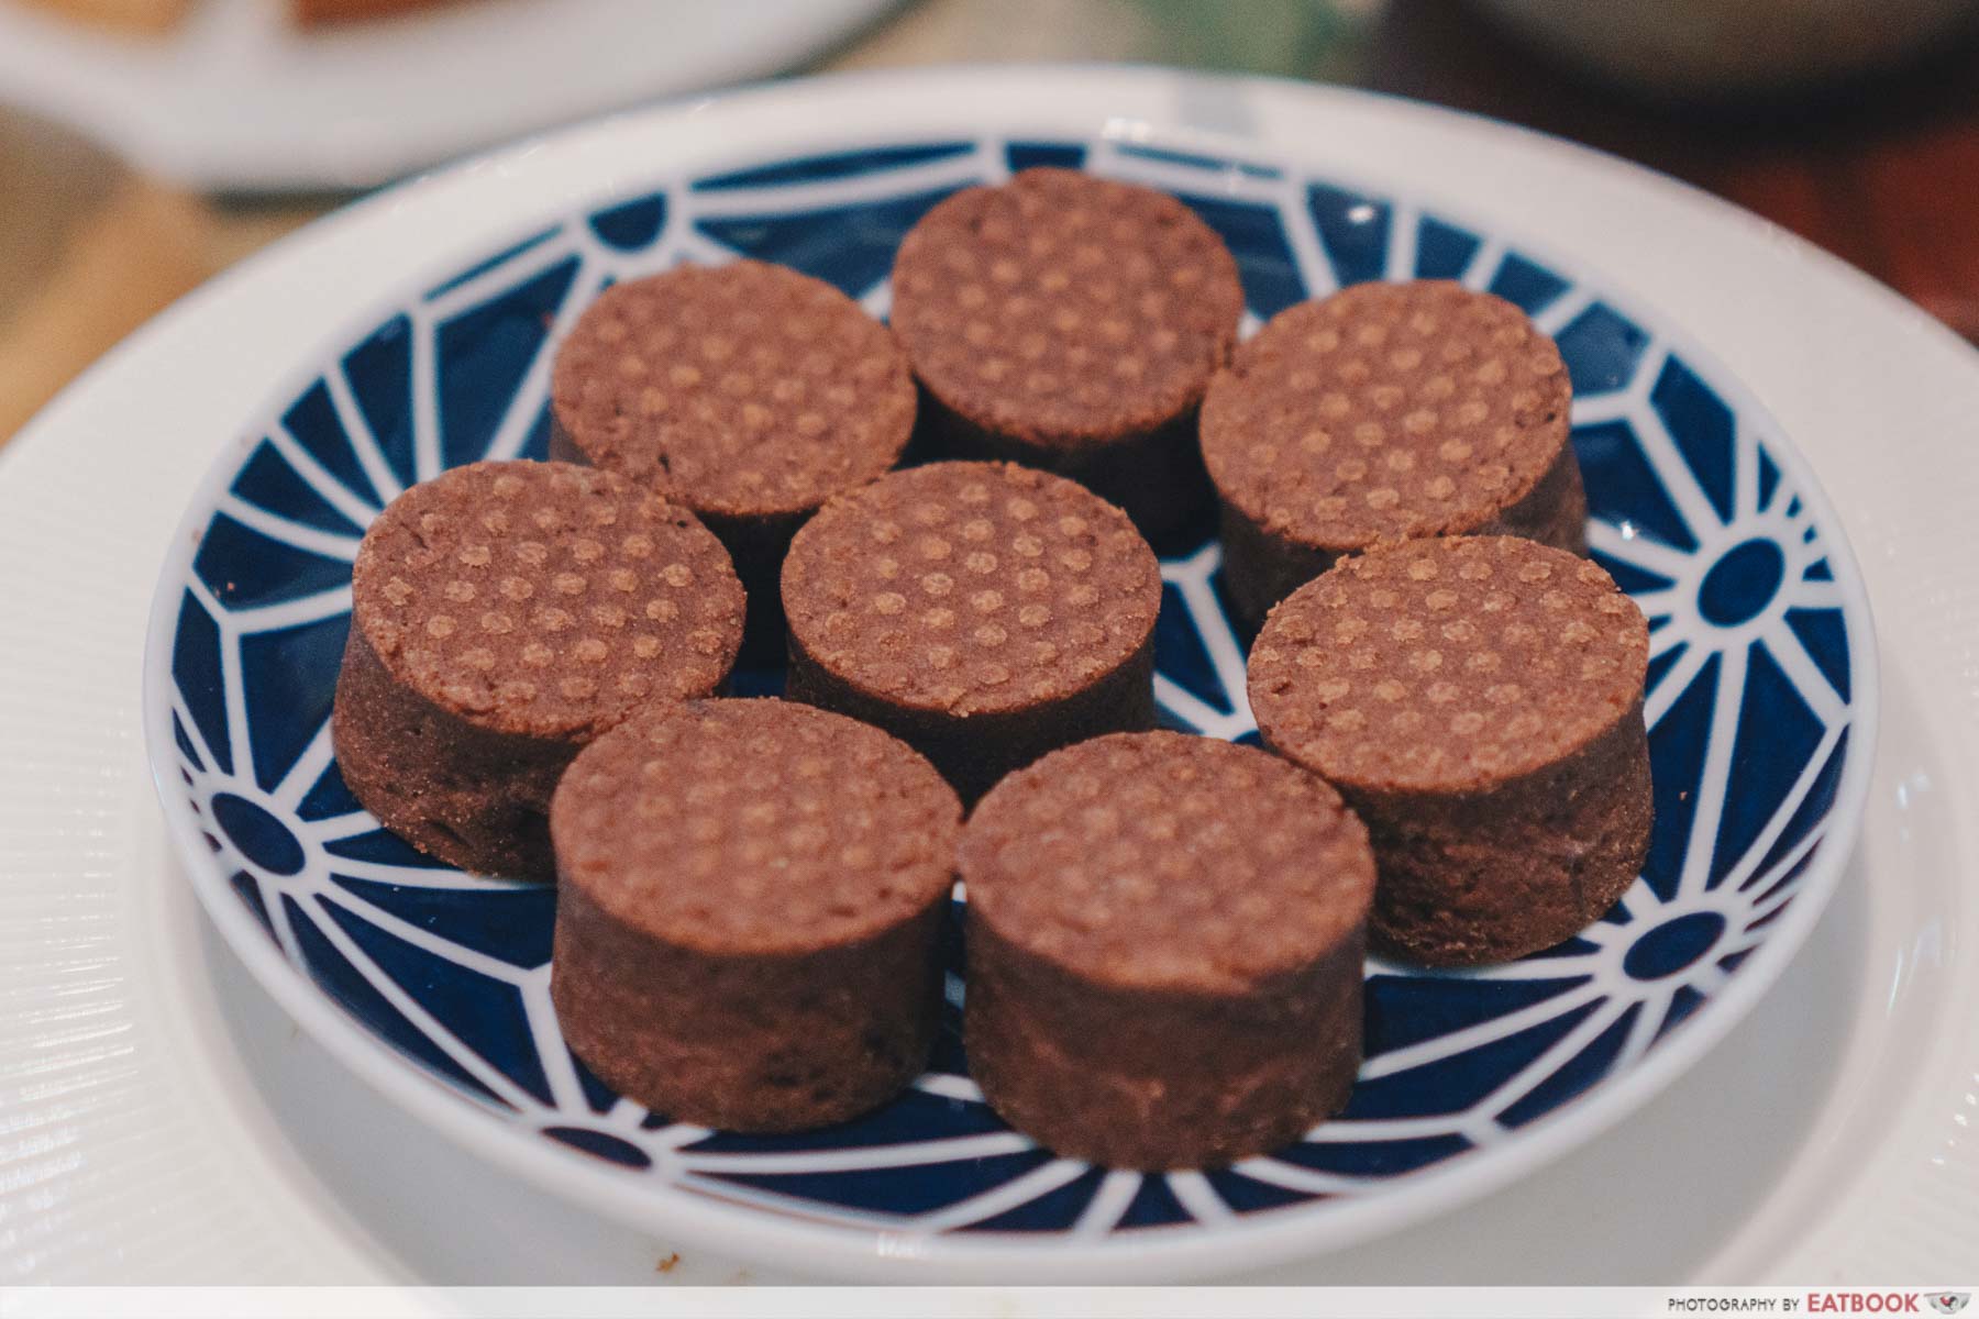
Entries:
{"label": "dotted top face of the front-left chocolate cookie", "polygon": [[782,700],[641,712],[556,789],[558,874],[615,920],[710,953],[809,951],[944,896],[962,803],[877,728]]}

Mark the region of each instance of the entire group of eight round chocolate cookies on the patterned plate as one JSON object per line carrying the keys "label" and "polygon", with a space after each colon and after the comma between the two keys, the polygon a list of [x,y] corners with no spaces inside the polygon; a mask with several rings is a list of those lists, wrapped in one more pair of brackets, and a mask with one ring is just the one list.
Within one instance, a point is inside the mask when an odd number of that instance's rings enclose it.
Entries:
{"label": "entire group of eight round chocolate cookies on the patterned plate", "polygon": [[[962,878],[1005,1119],[1138,1169],[1296,1139],[1352,1090],[1369,947],[1518,957],[1633,882],[1649,647],[1516,307],[1362,285],[1239,346],[1241,312],[1189,208],[1071,170],[932,208],[891,326],[754,261],[610,289],[556,461],[366,534],[346,781],[558,882],[566,1038],[679,1119],[895,1096]],[[1211,514],[1267,749],[1152,732],[1150,540]],[[790,700],[724,698],[738,655]]]}

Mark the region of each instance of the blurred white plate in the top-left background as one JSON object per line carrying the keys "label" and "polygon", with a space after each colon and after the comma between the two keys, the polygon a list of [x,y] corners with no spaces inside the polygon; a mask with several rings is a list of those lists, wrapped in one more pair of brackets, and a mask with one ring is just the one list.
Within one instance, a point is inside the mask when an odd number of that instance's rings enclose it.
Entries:
{"label": "blurred white plate in the top-left background", "polygon": [[301,30],[198,0],[158,36],[0,0],[0,101],[218,192],[370,188],[586,115],[766,77],[893,0],[457,0]]}

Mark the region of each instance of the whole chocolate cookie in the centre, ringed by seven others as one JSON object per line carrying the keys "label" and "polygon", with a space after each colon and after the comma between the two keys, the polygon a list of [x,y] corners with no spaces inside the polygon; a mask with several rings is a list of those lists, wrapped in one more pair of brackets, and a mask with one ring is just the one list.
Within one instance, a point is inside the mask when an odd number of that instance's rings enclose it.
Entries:
{"label": "whole chocolate cookie in the centre, ringed by seven others", "polygon": [[1154,726],[1160,607],[1148,542],[1084,486],[912,467],[792,542],[790,696],[885,728],[974,801],[1053,747]]}

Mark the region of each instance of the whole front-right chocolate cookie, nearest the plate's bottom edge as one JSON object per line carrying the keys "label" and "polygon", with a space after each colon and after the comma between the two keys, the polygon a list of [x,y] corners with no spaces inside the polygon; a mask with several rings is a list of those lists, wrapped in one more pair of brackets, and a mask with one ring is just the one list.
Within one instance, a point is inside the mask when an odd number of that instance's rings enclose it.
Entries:
{"label": "whole front-right chocolate cookie, nearest the plate's bottom edge", "polygon": [[1053,751],[962,835],[970,1076],[1061,1155],[1213,1167],[1340,1111],[1375,870],[1340,795],[1213,738]]}

